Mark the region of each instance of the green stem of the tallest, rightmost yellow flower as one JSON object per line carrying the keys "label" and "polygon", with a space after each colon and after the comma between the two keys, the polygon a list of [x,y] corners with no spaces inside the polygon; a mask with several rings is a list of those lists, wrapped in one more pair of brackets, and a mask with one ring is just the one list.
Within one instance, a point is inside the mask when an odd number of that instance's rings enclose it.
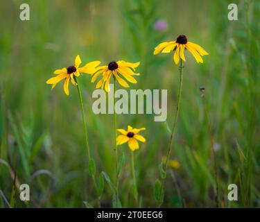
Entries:
{"label": "green stem of the tallest, rightmost yellow flower", "polygon": [[175,135],[175,129],[177,126],[177,119],[179,116],[179,110],[180,110],[180,101],[181,101],[181,96],[182,96],[182,70],[183,70],[183,61],[180,59],[180,83],[179,83],[179,90],[178,90],[178,95],[177,95],[177,107],[176,107],[176,112],[175,112],[175,118],[173,122],[173,129],[171,130],[171,139],[170,143],[168,145],[168,152],[166,156],[166,161],[164,164],[164,171],[166,172],[167,165],[168,165],[168,160],[171,156],[171,149],[172,149],[172,144],[173,144],[173,137]]}

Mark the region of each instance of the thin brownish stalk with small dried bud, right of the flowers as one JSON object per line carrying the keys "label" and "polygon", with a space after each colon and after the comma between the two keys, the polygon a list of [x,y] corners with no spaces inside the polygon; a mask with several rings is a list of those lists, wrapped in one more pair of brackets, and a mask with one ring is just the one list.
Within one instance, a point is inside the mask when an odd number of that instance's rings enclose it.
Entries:
{"label": "thin brownish stalk with small dried bud, right of the flowers", "polygon": [[209,121],[209,112],[207,110],[207,104],[206,104],[206,96],[205,96],[205,88],[201,87],[200,91],[202,92],[202,101],[204,105],[204,112],[205,112],[205,117],[207,121],[207,128],[209,131],[209,137],[210,137],[210,144],[211,144],[211,154],[213,158],[213,164],[214,164],[214,178],[215,178],[215,183],[216,183],[216,196],[215,196],[215,202],[216,202],[216,207],[219,207],[219,201],[218,201],[218,171],[217,171],[217,165],[216,165],[216,153],[214,151],[214,137],[211,129],[211,124]]}

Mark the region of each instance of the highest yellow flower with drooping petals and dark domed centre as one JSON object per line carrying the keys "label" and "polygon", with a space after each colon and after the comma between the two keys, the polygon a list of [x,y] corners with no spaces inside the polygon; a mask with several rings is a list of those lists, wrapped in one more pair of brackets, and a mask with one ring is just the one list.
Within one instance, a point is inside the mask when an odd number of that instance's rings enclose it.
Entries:
{"label": "highest yellow flower with drooping petals and dark domed centre", "polygon": [[202,49],[201,46],[195,44],[193,42],[188,42],[187,37],[185,35],[179,35],[176,41],[171,42],[162,42],[158,46],[155,47],[154,55],[162,53],[170,53],[175,50],[173,55],[173,60],[177,65],[180,61],[180,58],[186,61],[184,56],[184,49],[188,49],[192,56],[196,59],[198,63],[203,63],[202,56],[209,55],[205,49]]}

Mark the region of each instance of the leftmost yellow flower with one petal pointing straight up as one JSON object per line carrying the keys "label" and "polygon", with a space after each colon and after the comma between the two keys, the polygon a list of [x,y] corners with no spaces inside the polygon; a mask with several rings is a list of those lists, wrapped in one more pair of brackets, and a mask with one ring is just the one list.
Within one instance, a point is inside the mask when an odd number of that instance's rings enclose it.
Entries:
{"label": "leftmost yellow flower with one petal pointing straight up", "polygon": [[74,65],[68,68],[57,69],[54,71],[55,76],[50,78],[46,81],[47,84],[51,84],[53,89],[57,83],[64,79],[64,92],[69,96],[69,82],[73,85],[77,85],[76,81],[74,80],[74,76],[80,76],[80,73],[83,74],[94,74],[96,71],[96,67],[101,64],[99,61],[89,62],[84,67],[79,67],[81,64],[80,56],[76,56]]}

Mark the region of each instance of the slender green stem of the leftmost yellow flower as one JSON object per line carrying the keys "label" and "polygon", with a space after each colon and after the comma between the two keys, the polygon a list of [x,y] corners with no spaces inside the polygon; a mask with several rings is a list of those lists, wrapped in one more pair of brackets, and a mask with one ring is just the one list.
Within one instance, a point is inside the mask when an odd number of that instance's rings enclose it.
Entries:
{"label": "slender green stem of the leftmost yellow flower", "polygon": [[[80,88],[80,84],[78,83],[78,79],[75,78],[75,81],[76,83],[78,84],[77,85],[77,89],[78,89],[78,98],[80,100],[80,108],[81,108],[81,114],[82,114],[82,119],[83,119],[83,125],[84,125],[84,133],[85,133],[85,143],[86,143],[86,148],[87,148],[87,157],[88,157],[88,160],[90,162],[90,160],[92,159],[91,157],[91,154],[90,154],[90,151],[89,151],[89,139],[87,137],[87,123],[86,123],[86,120],[85,120],[85,112],[84,112],[84,106],[83,106],[83,98],[82,98],[82,93],[81,93],[81,88]],[[94,187],[96,189],[96,193],[98,194],[98,186],[96,184],[96,178],[94,175],[92,175],[92,180],[94,182]],[[98,194],[98,206],[100,207],[100,203],[101,203],[101,197],[100,195]]]}

